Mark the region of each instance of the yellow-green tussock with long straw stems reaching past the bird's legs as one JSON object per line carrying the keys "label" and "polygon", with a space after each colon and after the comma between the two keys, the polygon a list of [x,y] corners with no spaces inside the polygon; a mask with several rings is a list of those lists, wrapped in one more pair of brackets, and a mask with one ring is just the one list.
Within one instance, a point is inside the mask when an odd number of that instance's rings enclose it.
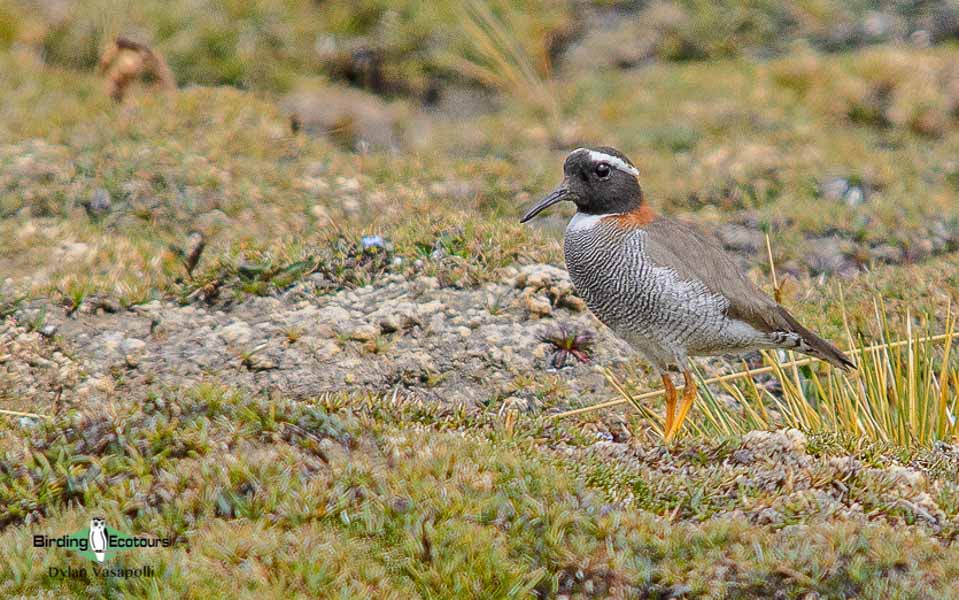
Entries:
{"label": "yellow-green tussock with long straw stems reaching past the bird's legs", "polygon": [[[762,353],[766,366],[714,378],[698,372],[700,399],[694,405],[702,420],[689,422],[697,435],[742,435],[754,429],[795,427],[903,446],[959,439],[959,365],[953,352],[956,315],[945,310],[945,333],[933,334],[928,323],[913,324],[906,314],[905,336],[895,332],[881,301],[875,319],[882,342],[858,345],[849,333],[849,354],[857,369],[817,368],[816,358],[796,359],[793,352]],[[844,320],[845,320],[845,314]],[[565,411],[562,418],[621,404],[633,406],[660,435],[662,418],[644,401],[663,394],[635,394],[608,369],[606,378],[618,399]],[[757,382],[757,378],[761,378]],[[710,385],[719,387],[714,391]]]}

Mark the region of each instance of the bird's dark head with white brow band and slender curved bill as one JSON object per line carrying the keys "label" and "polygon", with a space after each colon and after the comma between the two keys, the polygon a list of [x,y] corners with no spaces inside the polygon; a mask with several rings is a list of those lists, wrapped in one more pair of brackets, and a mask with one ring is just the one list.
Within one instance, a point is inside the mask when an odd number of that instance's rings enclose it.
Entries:
{"label": "bird's dark head with white brow band and slender curved bill", "polygon": [[629,212],[643,203],[639,170],[615,148],[577,148],[563,163],[563,183],[523,215],[520,222],[526,223],[564,200],[590,215]]}

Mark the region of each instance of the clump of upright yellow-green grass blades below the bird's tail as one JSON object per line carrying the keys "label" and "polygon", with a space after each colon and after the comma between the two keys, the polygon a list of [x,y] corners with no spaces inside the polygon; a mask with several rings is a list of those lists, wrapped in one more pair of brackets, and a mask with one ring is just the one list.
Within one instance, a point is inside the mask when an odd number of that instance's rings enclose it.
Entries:
{"label": "clump of upright yellow-green grass blades below the bird's tail", "polygon": [[[952,315],[947,323],[941,336],[915,336],[909,323],[901,342],[861,348],[859,369],[851,375],[830,370],[819,376],[813,369],[784,367],[769,357],[781,395],[755,384],[746,393],[730,385],[724,389],[743,409],[741,424],[750,429],[786,425],[905,446],[952,443],[959,435],[959,374],[950,355]],[[884,332],[890,333],[888,326]],[[703,411],[717,429],[738,426],[730,427],[735,413],[712,394],[707,394]]]}

